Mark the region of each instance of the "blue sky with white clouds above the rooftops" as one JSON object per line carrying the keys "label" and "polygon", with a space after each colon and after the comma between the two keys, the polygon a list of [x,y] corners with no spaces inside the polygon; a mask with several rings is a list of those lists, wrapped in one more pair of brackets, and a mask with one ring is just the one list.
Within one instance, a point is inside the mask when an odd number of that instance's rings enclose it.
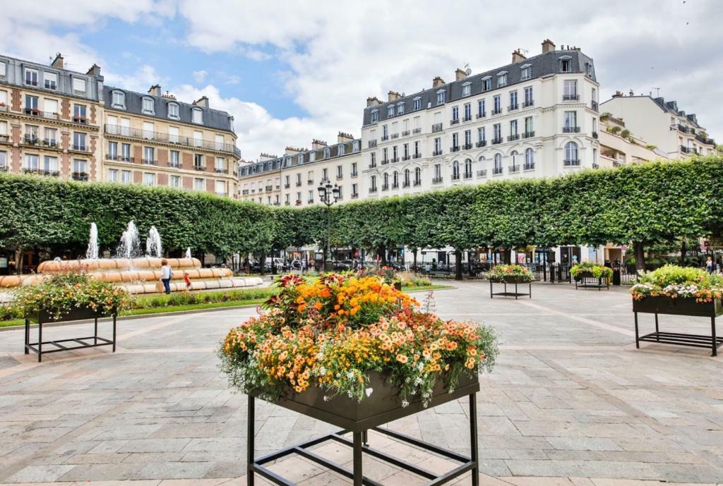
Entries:
{"label": "blue sky with white clouds above the rooftops", "polygon": [[545,38],[594,59],[600,100],[659,94],[723,142],[723,2],[0,0],[0,53],[234,116],[244,160],[360,136],[367,97],[416,92],[541,52]]}

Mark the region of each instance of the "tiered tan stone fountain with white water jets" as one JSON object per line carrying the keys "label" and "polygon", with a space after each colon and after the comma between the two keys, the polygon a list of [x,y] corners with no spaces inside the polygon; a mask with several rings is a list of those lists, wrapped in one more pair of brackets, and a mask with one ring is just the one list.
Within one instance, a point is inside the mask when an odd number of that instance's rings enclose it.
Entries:
{"label": "tiered tan stone fountain with white water jets", "polygon": [[[155,227],[150,228],[146,240],[147,256],[140,257],[140,240],[134,222],[129,222],[118,246],[116,257],[98,258],[98,227],[90,225],[90,241],[85,260],[47,260],[38,265],[35,275],[0,276],[0,288],[12,288],[20,285],[33,285],[41,282],[46,275],[87,272],[94,279],[113,282],[124,287],[132,294],[161,292],[161,235]],[[171,291],[184,291],[184,273],[193,282],[194,290],[225,289],[236,287],[254,287],[262,285],[259,277],[234,277],[231,269],[201,268],[201,262],[190,256],[191,248],[186,250],[186,258],[169,258],[168,265],[174,269],[171,279]]]}

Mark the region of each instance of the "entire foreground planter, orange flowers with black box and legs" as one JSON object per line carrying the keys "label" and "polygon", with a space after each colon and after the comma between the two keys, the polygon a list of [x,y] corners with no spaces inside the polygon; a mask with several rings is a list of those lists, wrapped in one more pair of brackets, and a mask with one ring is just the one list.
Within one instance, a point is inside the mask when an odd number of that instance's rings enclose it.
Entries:
{"label": "entire foreground planter, orange flowers with black box and legs", "polygon": [[[361,485],[361,442],[367,430],[443,451],[377,428],[462,396],[471,397],[473,420],[478,373],[490,370],[497,355],[494,331],[442,321],[376,276],[328,274],[307,282],[290,275],[280,279],[279,286],[280,292],[262,305],[259,316],[229,331],[219,351],[231,386],[249,394],[249,476],[269,477],[265,462],[301,454]],[[353,441],[332,434],[312,442],[346,441],[354,447],[354,471],[339,470],[307,451],[311,443],[255,459],[254,397],[351,431]],[[473,427],[476,431],[476,417]],[[448,479],[461,474],[458,469],[476,474],[476,432],[471,440],[471,458],[446,451],[462,462]],[[368,447],[364,452],[404,464]],[[422,471],[407,466],[417,474]],[[433,478],[446,476],[432,474]]]}

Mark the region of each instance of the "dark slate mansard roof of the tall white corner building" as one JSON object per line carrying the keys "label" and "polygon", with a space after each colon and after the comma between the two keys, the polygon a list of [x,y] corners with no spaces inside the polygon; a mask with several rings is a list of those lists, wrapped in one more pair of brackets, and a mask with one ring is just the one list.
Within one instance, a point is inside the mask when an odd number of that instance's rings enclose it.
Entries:
{"label": "dark slate mansard roof of the tall white corner building", "polygon": [[[363,125],[366,126],[372,123],[372,110],[375,109],[379,112],[379,121],[387,120],[387,110],[389,105],[398,105],[402,102],[404,103],[404,115],[397,115],[393,116],[392,118],[398,118],[400,116],[406,116],[409,113],[412,113],[415,97],[422,98],[422,110],[427,109],[427,105],[429,105],[431,108],[435,108],[437,106],[437,91],[439,90],[445,90],[445,104],[461,100],[462,84],[466,84],[468,82],[471,83],[471,95],[467,96],[466,98],[474,97],[475,95],[479,95],[484,92],[482,90],[482,81],[487,77],[492,78],[492,89],[488,91],[497,90],[497,74],[501,73],[502,71],[507,71],[507,84],[505,84],[505,88],[518,83],[528,83],[530,79],[547,76],[549,74],[557,74],[560,72],[560,58],[564,56],[569,56],[570,71],[574,73],[586,72],[586,64],[590,64],[592,69],[591,79],[593,81],[596,81],[595,66],[593,64],[592,58],[586,56],[577,49],[570,51],[552,51],[524,59],[523,61],[516,62],[515,64],[508,64],[507,66],[502,66],[497,69],[490,69],[489,71],[474,74],[473,76],[466,77],[465,79],[461,79],[459,81],[449,82],[447,84],[443,84],[440,87],[430,87],[427,90],[416,92],[411,95],[406,95],[399,98],[398,100],[385,102],[381,105],[367,106],[367,108],[364,108]],[[521,79],[521,67],[525,65],[531,66],[532,72],[530,79],[523,80]]]}

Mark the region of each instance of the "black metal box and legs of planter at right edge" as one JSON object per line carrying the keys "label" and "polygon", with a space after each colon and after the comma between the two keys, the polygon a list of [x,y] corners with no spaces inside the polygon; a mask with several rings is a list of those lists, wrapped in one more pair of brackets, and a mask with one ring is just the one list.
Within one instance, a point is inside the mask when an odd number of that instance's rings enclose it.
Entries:
{"label": "black metal box and legs of planter at right edge", "polygon": [[[638,312],[655,314],[655,332],[639,336]],[[718,348],[723,345],[723,338],[716,337],[716,317],[723,315],[723,302],[720,299],[714,299],[707,303],[696,303],[695,299],[690,298],[643,297],[641,300],[633,299],[633,313],[635,313],[635,341],[637,348],[640,348],[641,341],[677,344],[678,346],[709,348],[711,356],[716,356],[718,355]],[[658,314],[708,317],[711,319],[711,335],[660,331]]]}

